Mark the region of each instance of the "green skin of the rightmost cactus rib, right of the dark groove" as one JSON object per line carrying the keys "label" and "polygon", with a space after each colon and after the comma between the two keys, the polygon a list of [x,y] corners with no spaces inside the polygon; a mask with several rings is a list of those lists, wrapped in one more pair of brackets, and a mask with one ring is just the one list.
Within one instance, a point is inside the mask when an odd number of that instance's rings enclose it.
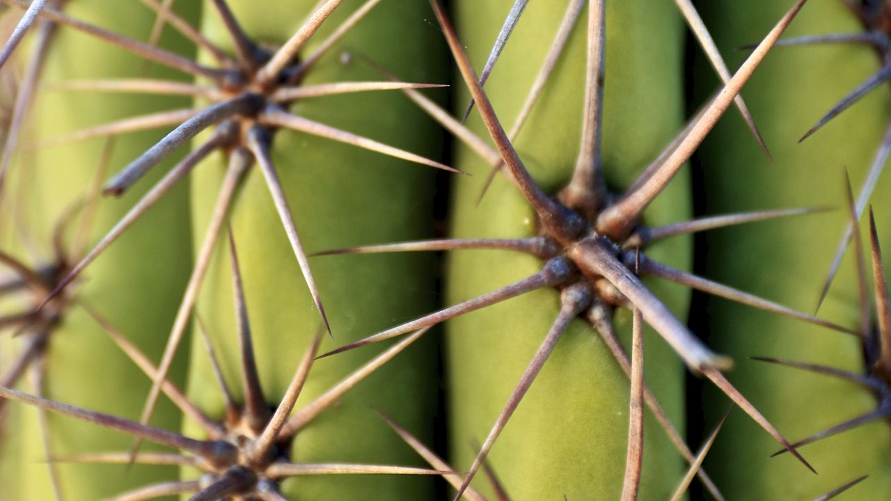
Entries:
{"label": "green skin of the rightmost cactus rib, right of the dark groove", "polygon": [[[732,47],[749,43],[752,34],[768,26],[783,8],[783,3],[774,2],[706,3],[703,16],[722,52],[735,60],[729,62],[733,67],[741,55]],[[813,2],[787,37],[859,30],[841,2]],[[748,140],[740,119],[724,119],[700,150],[707,211],[826,204],[838,210],[709,234],[711,278],[792,308],[813,308],[848,220],[843,168],[850,170],[857,189],[887,127],[887,93],[870,94],[866,102],[855,104],[804,143],[796,142],[822,112],[877,68],[871,50],[860,45],[790,47],[764,62],[744,94],[769,138],[775,164],[764,160],[757,144]],[[884,225],[879,235],[885,238],[891,234],[891,218],[887,196],[881,193],[888,193],[889,183],[886,175],[872,197],[879,225]],[[822,317],[852,327],[859,315],[853,254],[851,247],[821,308]],[[707,308],[710,345],[738,362],[729,378],[789,439],[804,438],[875,408],[869,391],[848,382],[748,360],[778,357],[862,374],[862,351],[854,337],[723,300],[708,300]],[[724,401],[707,393],[714,415],[726,405]],[[891,433],[881,421],[808,445],[800,452],[821,473],[814,476],[788,455],[768,459],[775,444],[734,413],[706,467],[715,472],[715,481],[730,499],[811,499],[863,474],[870,478],[849,496],[884,499],[891,491],[889,445]]]}

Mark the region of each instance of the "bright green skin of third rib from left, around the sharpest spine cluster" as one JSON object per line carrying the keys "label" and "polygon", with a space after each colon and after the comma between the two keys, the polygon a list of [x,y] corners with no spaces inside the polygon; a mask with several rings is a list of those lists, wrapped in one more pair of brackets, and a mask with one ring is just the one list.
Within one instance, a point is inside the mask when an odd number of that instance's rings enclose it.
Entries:
{"label": "bright green skin of third rib from left, around the sharpest spine cluster", "polygon": [[[481,68],[511,2],[457,4],[462,44]],[[504,49],[486,91],[503,123],[511,123],[551,43],[565,4],[530,3]],[[584,28],[576,26],[568,52],[516,142],[527,167],[546,190],[568,182],[580,136],[584,87]],[[645,41],[645,42],[642,42]],[[670,3],[622,2],[607,6],[607,60],[603,152],[608,182],[624,186],[658,154],[681,124],[682,28]],[[656,77],[658,75],[658,77]],[[466,93],[455,101],[463,111]],[[476,112],[470,126],[486,136]],[[488,170],[472,152],[455,166],[474,177],[455,180],[452,234],[456,238],[516,238],[535,234],[535,216],[519,192],[499,177],[477,207]],[[646,214],[658,225],[689,216],[688,177],[681,176]],[[648,252],[674,267],[689,267],[691,247],[671,240]],[[536,259],[496,250],[457,250],[449,258],[449,304],[531,275]],[[655,292],[675,312],[688,293],[663,283]],[[519,375],[558,311],[557,293],[544,290],[461,316],[448,325],[447,359],[454,466],[470,464],[471,440],[486,437]],[[627,311],[617,327],[630,332]],[[625,334],[624,333],[624,334]],[[683,423],[683,367],[660,341],[646,334],[646,377],[674,423]],[[544,365],[489,461],[517,499],[615,499],[622,489],[628,427],[628,382],[592,328],[576,321]],[[665,498],[682,476],[682,460],[649,417],[644,433],[642,498]],[[473,485],[488,490],[485,478]]]}

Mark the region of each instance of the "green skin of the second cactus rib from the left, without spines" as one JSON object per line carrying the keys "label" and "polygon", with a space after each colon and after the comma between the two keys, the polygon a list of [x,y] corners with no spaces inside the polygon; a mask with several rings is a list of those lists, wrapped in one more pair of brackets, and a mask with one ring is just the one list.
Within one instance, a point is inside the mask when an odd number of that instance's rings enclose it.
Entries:
{"label": "green skin of the second cactus rib from the left, without spines", "polygon": [[[298,28],[315,1],[230,2],[244,31],[254,39],[281,43]],[[361,2],[347,1],[325,21],[303,51],[312,52]],[[261,15],[262,14],[262,15]],[[413,1],[381,2],[307,74],[305,83],[380,80],[364,64],[367,54],[400,78],[421,82],[445,80],[441,38],[421,22],[429,7]],[[290,20],[284,22],[285,20]],[[202,26],[215,43],[229,38],[208,6]],[[344,63],[340,51],[353,53]],[[441,133],[398,92],[342,95],[298,103],[292,111],[334,127],[372,137],[428,156],[440,154]],[[307,252],[356,242],[388,242],[429,236],[432,169],[392,160],[353,146],[300,135],[276,133],[273,158],[288,194],[300,238]],[[224,175],[225,160],[212,158],[196,169],[192,184],[196,234],[203,234],[209,210]],[[217,163],[217,165],[213,165]],[[241,269],[255,335],[260,381],[271,405],[277,403],[321,324],[309,299],[263,176],[255,165],[245,177],[231,210]],[[235,340],[228,256],[217,244],[197,311],[208,325],[225,377],[240,381]],[[323,350],[353,341],[433,308],[432,259],[424,255],[389,255],[311,259],[315,280],[331,320],[334,341]],[[223,413],[223,402],[200,339],[193,342],[188,394],[210,415]],[[376,351],[374,351],[376,352]],[[364,363],[372,353],[361,350],[319,360],[301,402]],[[300,431],[291,450],[295,462],[420,464],[411,448],[372,412],[380,408],[431,441],[435,405],[436,356],[432,340],[420,341],[373,374],[342,403]],[[304,399],[306,398],[306,399]],[[299,404],[298,404],[299,405]],[[432,480],[396,476],[304,477],[282,484],[289,499],[431,498]]]}

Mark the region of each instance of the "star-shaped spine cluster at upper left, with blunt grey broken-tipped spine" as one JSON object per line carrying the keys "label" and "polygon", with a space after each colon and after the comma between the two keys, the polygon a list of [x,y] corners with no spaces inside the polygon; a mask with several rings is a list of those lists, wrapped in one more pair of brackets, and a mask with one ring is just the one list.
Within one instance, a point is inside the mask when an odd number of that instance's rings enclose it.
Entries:
{"label": "star-shaped spine cluster at upper left, with blunt grey broken-tipped spine", "polygon": [[[10,4],[18,7],[23,6],[22,4],[17,4],[15,2],[10,2]],[[318,60],[319,53],[323,53],[330,49],[331,45],[340,37],[347,34],[347,31],[349,31],[357,21],[360,21],[375,4],[377,4],[377,0],[370,0],[362,5],[361,8],[357,9],[352,16],[343,22],[339,29],[335,30],[331,36],[323,42],[316,53],[311,54],[307,58],[307,62],[311,61],[315,63],[315,61]],[[234,18],[231,18],[232,12],[228,6],[223,6],[224,4],[219,3],[215,5],[217,6],[217,12],[222,15],[223,18],[228,20],[225,21],[227,26],[237,26],[238,22],[235,21]],[[241,160],[238,162],[238,165],[232,165],[232,175],[227,177],[227,183],[221,187],[220,196],[217,202],[216,216],[213,218],[211,222],[212,224],[208,226],[206,236],[201,243],[199,258],[197,259],[196,266],[190,276],[183,301],[181,302],[173,327],[170,331],[168,345],[160,364],[159,376],[153,383],[146,405],[143,408],[143,415],[141,418],[141,422],[143,423],[148,423],[151,418],[153,408],[159,397],[161,381],[173,364],[176,349],[184,337],[194,301],[197,298],[200,285],[207,272],[210,253],[214,248],[214,243],[216,242],[223,221],[227,217],[228,208],[233,201],[236,187],[241,184],[241,177],[243,177],[244,172],[249,168],[249,165],[254,159],[257,160],[258,165],[264,172],[266,183],[269,186],[279,217],[282,219],[282,224],[288,234],[293,253],[300,265],[301,273],[313,296],[315,306],[323,318],[323,323],[329,333],[331,333],[331,326],[328,324],[321,296],[319,295],[315,278],[310,271],[306,253],[303,250],[293,216],[290,212],[289,203],[285,199],[281,181],[274,168],[274,162],[268,153],[271,137],[270,132],[272,130],[279,127],[290,128],[308,135],[320,136],[336,142],[352,144],[372,152],[380,152],[398,159],[409,160],[454,172],[454,169],[448,168],[437,161],[428,160],[420,155],[406,152],[405,150],[389,146],[388,144],[382,144],[368,137],[349,133],[337,127],[327,126],[305,117],[291,115],[288,111],[283,109],[283,107],[289,106],[290,103],[295,100],[306,97],[320,97],[333,94],[365,92],[369,90],[393,90],[404,87],[403,85],[394,85],[390,82],[356,82],[346,83],[340,86],[329,85],[323,86],[322,88],[316,87],[315,89],[311,89],[312,92],[300,93],[297,88],[293,87],[293,85],[298,83],[298,75],[301,76],[300,78],[306,76],[307,70],[309,70],[306,62],[280,68],[279,70],[282,71],[282,77],[279,79],[280,81],[267,81],[267,70],[274,68],[281,63],[282,54],[288,54],[286,55],[286,59],[290,61],[290,59],[295,56],[294,51],[297,51],[302,45],[306,44],[308,38],[315,33],[315,30],[321,27],[321,23],[328,18],[334,8],[338,5],[339,2],[326,2],[317,6],[307,22],[300,26],[297,31],[295,31],[295,34],[290,37],[289,43],[274,52],[267,53],[266,50],[257,48],[257,46],[255,46],[256,44],[252,41],[241,40],[241,43],[237,43],[236,45],[250,45],[255,47],[251,53],[241,53],[241,55],[238,56],[238,59],[244,61],[245,65],[241,68],[236,67],[234,69],[232,68],[234,62],[227,60],[225,56],[221,56],[220,54],[222,51],[220,49],[210,51],[217,59],[222,59],[223,62],[221,68],[214,69],[209,66],[204,66],[199,62],[183,58],[175,53],[168,53],[152,47],[151,45],[143,44],[135,39],[123,37],[84,21],[79,21],[76,18],[66,16],[53,9],[45,9],[40,12],[41,15],[44,15],[52,21],[60,22],[61,24],[85,32],[93,37],[108,41],[113,45],[119,45],[121,48],[142,56],[149,61],[159,62],[160,64],[167,65],[176,70],[182,70],[187,73],[210,78],[217,82],[219,92],[211,93],[209,94],[209,97],[213,98],[216,96],[219,101],[217,103],[211,103],[207,107],[198,110],[169,111],[150,116],[119,120],[118,122],[99,127],[92,127],[55,139],[54,142],[66,143],[72,139],[84,139],[105,134],[122,134],[132,130],[141,130],[143,128],[159,127],[168,123],[176,123],[177,120],[182,119],[181,117],[185,118],[185,120],[165,136],[164,139],[143,152],[136,158],[136,160],[130,162],[126,168],[124,168],[116,177],[112,178],[106,185],[104,190],[106,194],[120,195],[127,191],[130,186],[134,185],[160,160],[163,160],[171,152],[174,152],[179,146],[188,142],[202,130],[218,125],[217,136],[211,138],[208,144],[204,144],[195,152],[188,155],[183,162],[168,174],[167,177],[164,177],[159,181],[159,184],[152,188],[151,191],[145,195],[143,200],[140,201],[134,209],[131,209],[127,216],[114,226],[110,230],[110,233],[107,234],[101,242],[96,244],[94,249],[91,250],[84,259],[73,267],[70,273],[61,280],[55,290],[49,294],[45,299],[44,304],[39,308],[44,308],[46,303],[53,300],[53,298],[74,280],[90,263],[92,263],[94,259],[102,254],[112,242],[117,240],[120,234],[123,234],[130,226],[132,226],[145,211],[159,201],[168,190],[184,177],[184,174],[186,174],[200,160],[203,160],[209,152],[214,149],[230,149],[243,143],[239,146],[240,149],[236,150],[241,152],[241,154],[233,156],[233,158],[241,158]],[[188,24],[182,19],[177,18],[176,16],[173,16],[172,19],[177,20],[175,26],[181,32],[191,34],[189,37],[196,40],[196,43],[198,43],[197,41],[200,41],[199,45],[216,47],[216,45],[210,43],[206,37],[201,37],[200,35],[196,35],[196,32],[186,29],[185,27],[188,26]],[[240,29],[233,31],[232,35],[236,38],[244,37],[244,34]],[[168,90],[171,86],[175,87],[178,92],[183,91],[182,87],[178,86],[176,82],[157,81],[152,83],[143,81],[143,83],[134,83],[132,80],[125,80],[122,83],[130,84],[129,90],[142,90],[146,93],[158,92],[159,89],[162,89],[164,92],[161,94],[168,94]],[[282,83],[287,85],[281,86]],[[417,87],[418,85],[409,84],[407,86]],[[94,86],[94,88],[98,87]],[[174,92],[174,94],[176,94],[176,92]]]}

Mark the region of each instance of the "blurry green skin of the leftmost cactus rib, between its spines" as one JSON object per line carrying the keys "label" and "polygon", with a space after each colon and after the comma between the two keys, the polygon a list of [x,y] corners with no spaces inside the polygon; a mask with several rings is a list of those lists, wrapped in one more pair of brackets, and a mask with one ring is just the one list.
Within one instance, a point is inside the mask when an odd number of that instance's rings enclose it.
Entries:
{"label": "blurry green skin of the leftmost cactus rib, between its spines", "polygon": [[[186,19],[195,21],[198,18],[195,4],[180,2],[176,10]],[[113,29],[141,40],[148,39],[154,22],[154,16],[142,6],[116,0],[77,0],[67,5],[66,12],[98,25],[113,26]],[[190,50],[190,45],[181,37],[170,36],[169,33],[161,38],[160,45],[184,54]],[[25,47],[20,48],[19,55],[29,57],[23,49]],[[42,80],[140,77],[145,76],[143,67],[143,61],[132,54],[69,29],[59,29],[45,63]],[[158,65],[151,67],[148,76],[184,78]],[[60,92],[38,92],[20,144],[28,148],[28,144],[33,145],[82,127],[187,105],[187,100],[166,96],[134,98],[132,95],[72,96]],[[158,131],[150,131],[120,137],[110,160],[111,172],[135,158],[158,136]],[[40,250],[45,252],[44,258],[48,257],[53,226],[64,211],[71,209],[72,201],[86,195],[89,186],[94,183],[104,143],[104,139],[94,139],[29,152],[22,152],[20,148],[19,163],[12,166],[13,178],[9,179],[4,194],[10,194],[22,186],[22,191],[11,196],[11,199],[22,204],[21,210],[29,224],[28,232],[39,244]],[[159,171],[145,180],[146,185],[154,182],[160,170],[169,168],[174,160],[159,166]],[[16,179],[16,176],[20,179]],[[120,200],[100,201],[88,242],[93,242],[138,200],[143,186]],[[27,196],[24,196],[25,193]],[[152,358],[159,357],[163,348],[164,339],[159,333],[167,331],[169,321],[176,312],[176,291],[184,287],[191,260],[190,222],[183,217],[188,208],[187,197],[188,189],[185,186],[170,193],[168,200],[152,209],[145,220],[133,227],[111,247],[107,255],[90,267],[85,280],[77,285],[82,300],[94,306]],[[77,219],[71,226],[77,226]],[[75,228],[71,229],[69,237]],[[71,238],[66,239],[69,246],[71,241]],[[45,394],[48,398],[130,418],[138,417],[144,395],[149,389],[149,382],[139,369],[77,305],[69,308],[69,314],[50,337],[45,370]],[[184,381],[183,364],[176,365],[171,380]],[[25,384],[22,389],[30,391],[31,387]],[[13,404],[9,407],[18,406]],[[4,455],[9,450],[16,457],[4,456],[2,463],[5,465],[15,461],[20,464],[21,470],[18,485],[7,493],[12,499],[53,499],[43,442],[37,430],[36,411],[16,409],[16,414],[20,414],[19,423],[11,423],[17,426],[16,432],[4,435],[4,438],[15,436],[20,443],[9,444],[10,448],[4,450]],[[57,456],[127,449],[132,440],[116,431],[76,423],[68,418],[51,415],[48,419],[53,450]],[[176,429],[180,416],[165,402],[152,423]],[[176,475],[176,469],[172,467],[134,466],[127,470],[122,465],[61,464],[59,469],[61,489],[69,500],[108,497],[146,482]]]}

